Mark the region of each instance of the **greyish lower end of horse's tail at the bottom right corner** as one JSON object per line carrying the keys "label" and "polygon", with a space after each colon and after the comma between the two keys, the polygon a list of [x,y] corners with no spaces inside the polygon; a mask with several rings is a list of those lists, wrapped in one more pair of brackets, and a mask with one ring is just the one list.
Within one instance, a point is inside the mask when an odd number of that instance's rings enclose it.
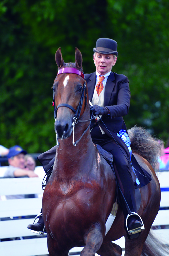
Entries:
{"label": "greyish lower end of horse's tail at the bottom right corner", "polygon": [[143,245],[141,256],[167,256],[169,255],[169,244],[160,242],[151,231]]}

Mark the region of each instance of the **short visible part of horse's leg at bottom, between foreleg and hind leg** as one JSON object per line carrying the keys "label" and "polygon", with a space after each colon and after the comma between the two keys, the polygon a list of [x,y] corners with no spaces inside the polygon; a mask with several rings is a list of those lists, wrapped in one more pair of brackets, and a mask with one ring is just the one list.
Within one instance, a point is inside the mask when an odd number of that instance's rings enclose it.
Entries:
{"label": "short visible part of horse's leg at bottom, between foreleg and hind leg", "polygon": [[100,249],[97,251],[97,254],[101,256],[121,256],[122,249],[119,245],[110,242],[102,244]]}

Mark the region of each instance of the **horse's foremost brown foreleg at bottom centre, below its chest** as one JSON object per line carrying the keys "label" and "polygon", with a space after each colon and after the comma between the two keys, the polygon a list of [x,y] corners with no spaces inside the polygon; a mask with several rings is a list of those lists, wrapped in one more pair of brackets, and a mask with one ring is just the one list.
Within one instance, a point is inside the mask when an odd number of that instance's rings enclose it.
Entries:
{"label": "horse's foremost brown foreleg at bottom centre, below its chest", "polygon": [[80,256],[94,256],[103,242],[102,229],[98,223],[92,224],[91,229],[84,236],[84,242],[86,245]]}

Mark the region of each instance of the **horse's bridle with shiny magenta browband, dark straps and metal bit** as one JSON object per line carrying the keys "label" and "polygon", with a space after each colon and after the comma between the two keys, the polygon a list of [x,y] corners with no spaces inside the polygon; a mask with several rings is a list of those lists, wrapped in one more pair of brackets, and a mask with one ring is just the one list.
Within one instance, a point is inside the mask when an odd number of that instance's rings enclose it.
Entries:
{"label": "horse's bridle with shiny magenta browband, dark straps and metal bit", "polygon": [[[82,78],[84,78],[84,73],[82,73],[80,70],[77,70],[76,68],[73,68],[73,67],[64,67],[64,68],[61,68],[57,75],[59,74],[63,74],[63,73],[73,73],[73,74],[77,74],[77,75],[80,75]],[[83,84],[83,90],[82,90],[82,93],[81,93],[81,97],[80,97],[80,101],[79,101],[79,105],[77,107],[77,109],[75,110],[74,107],[72,107],[71,105],[69,104],[66,104],[66,103],[62,103],[62,104],[59,104],[56,108],[55,106],[55,99],[54,99],[54,96],[55,96],[55,92],[53,90],[53,106],[54,106],[54,119],[56,121],[56,118],[57,118],[57,110],[59,107],[68,107],[69,109],[71,109],[74,113],[75,113],[75,116],[73,117],[73,123],[72,123],[72,126],[73,126],[73,145],[76,146],[76,144],[81,140],[81,138],[83,137],[83,135],[87,132],[87,130],[89,129],[90,127],[90,124],[88,125],[87,129],[84,131],[84,133],[82,134],[82,136],[80,137],[79,140],[77,141],[74,141],[74,128],[75,128],[75,124],[78,123],[78,121],[80,122],[79,120],[79,117],[80,117],[80,114],[81,114],[81,109],[82,109],[82,105],[83,105],[83,100],[85,100],[85,109],[86,109],[86,104],[87,104],[87,94],[86,94],[86,80],[84,78],[84,84]],[[92,118],[93,119],[93,118]],[[83,122],[87,122],[87,121],[91,121],[91,119],[89,120],[85,120]],[[81,121],[82,122],[82,121]],[[91,122],[90,122],[91,123]],[[58,142],[58,137],[57,137],[57,133],[56,133],[56,139],[57,139],[57,146],[59,147],[59,142]]]}

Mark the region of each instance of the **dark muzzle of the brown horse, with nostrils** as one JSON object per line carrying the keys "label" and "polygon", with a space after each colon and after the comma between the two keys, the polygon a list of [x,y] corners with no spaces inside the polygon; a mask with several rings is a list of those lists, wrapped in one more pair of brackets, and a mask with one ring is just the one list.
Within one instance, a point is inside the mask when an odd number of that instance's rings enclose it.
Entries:
{"label": "dark muzzle of the brown horse, with nostrils", "polygon": [[72,133],[72,123],[68,123],[65,120],[56,120],[54,124],[54,130],[58,139],[66,139]]}

